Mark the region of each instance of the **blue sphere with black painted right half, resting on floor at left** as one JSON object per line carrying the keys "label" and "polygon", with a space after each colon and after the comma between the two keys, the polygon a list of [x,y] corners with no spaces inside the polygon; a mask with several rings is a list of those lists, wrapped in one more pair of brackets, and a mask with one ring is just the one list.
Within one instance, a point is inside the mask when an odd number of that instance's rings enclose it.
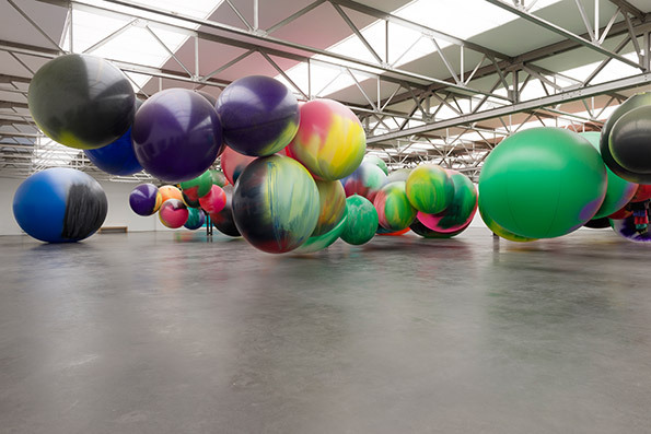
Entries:
{"label": "blue sphere with black painted right half, resting on floor at left", "polygon": [[100,183],[73,168],[54,167],[25,179],[13,196],[13,216],[27,235],[46,243],[93,235],[108,210]]}

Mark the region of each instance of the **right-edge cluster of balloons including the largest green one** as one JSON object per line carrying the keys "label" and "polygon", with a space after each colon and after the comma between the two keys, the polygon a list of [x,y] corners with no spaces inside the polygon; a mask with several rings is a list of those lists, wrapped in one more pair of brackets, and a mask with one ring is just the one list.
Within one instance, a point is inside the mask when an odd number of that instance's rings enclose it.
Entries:
{"label": "right-edge cluster of balloons including the largest green one", "polygon": [[650,93],[620,105],[601,133],[518,132],[486,160],[479,212],[493,233],[516,242],[557,237],[583,225],[609,225],[628,239],[651,241],[650,137]]}

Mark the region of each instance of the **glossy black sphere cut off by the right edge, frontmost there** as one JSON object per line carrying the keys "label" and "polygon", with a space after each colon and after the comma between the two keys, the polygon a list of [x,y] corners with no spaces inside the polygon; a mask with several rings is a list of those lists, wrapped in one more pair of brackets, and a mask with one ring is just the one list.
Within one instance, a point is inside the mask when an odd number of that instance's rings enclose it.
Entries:
{"label": "glossy black sphere cut off by the right edge, frontmost there", "polygon": [[651,105],[633,108],[613,125],[608,141],[625,179],[651,184]]}

